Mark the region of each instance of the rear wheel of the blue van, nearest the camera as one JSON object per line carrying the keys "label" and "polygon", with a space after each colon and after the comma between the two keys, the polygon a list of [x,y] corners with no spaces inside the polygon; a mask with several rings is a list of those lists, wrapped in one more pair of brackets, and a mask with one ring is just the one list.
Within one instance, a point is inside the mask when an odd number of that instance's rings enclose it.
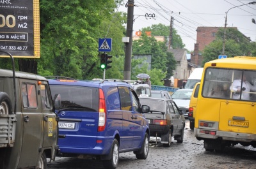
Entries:
{"label": "rear wheel of the blue van, nearest the camera", "polygon": [[111,159],[103,161],[104,168],[106,168],[106,169],[107,168],[108,169],[114,169],[118,165],[118,161],[119,161],[119,143],[116,139],[113,142],[110,153],[111,153]]}

